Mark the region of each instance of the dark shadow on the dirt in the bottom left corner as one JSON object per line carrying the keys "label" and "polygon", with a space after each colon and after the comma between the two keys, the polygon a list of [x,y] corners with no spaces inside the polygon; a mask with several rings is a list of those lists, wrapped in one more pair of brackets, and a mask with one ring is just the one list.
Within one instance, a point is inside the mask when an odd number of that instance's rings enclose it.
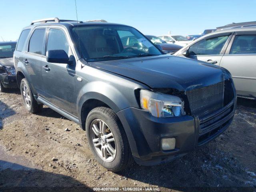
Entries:
{"label": "dark shadow on the dirt in the bottom left corner", "polygon": [[1,192],[93,191],[78,180],[0,160]]}

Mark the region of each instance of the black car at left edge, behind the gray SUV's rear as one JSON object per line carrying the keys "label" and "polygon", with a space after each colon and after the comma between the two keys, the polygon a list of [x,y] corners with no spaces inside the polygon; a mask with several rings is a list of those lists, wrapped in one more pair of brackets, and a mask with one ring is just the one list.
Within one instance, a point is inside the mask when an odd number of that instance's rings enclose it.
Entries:
{"label": "black car at left edge, behind the gray SUV's rear", "polygon": [[0,92],[6,88],[16,88],[16,72],[13,52],[17,42],[0,42]]}

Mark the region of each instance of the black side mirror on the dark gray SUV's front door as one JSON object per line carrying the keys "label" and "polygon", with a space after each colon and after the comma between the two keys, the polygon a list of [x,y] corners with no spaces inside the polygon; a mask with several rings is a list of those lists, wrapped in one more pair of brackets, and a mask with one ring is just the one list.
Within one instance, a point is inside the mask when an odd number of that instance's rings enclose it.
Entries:
{"label": "black side mirror on the dark gray SUV's front door", "polygon": [[48,50],[46,52],[46,61],[49,63],[70,63],[68,54],[64,50]]}

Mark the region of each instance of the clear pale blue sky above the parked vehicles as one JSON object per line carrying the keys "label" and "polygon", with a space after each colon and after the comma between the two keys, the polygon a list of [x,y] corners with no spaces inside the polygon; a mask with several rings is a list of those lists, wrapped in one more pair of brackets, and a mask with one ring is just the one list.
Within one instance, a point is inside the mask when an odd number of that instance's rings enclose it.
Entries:
{"label": "clear pale blue sky above the parked vehicles", "polygon": [[[232,22],[254,21],[256,0],[76,0],[78,20],[105,19],[144,34],[199,34]],[[16,40],[32,20],[76,20],[74,0],[0,0],[0,40]]]}

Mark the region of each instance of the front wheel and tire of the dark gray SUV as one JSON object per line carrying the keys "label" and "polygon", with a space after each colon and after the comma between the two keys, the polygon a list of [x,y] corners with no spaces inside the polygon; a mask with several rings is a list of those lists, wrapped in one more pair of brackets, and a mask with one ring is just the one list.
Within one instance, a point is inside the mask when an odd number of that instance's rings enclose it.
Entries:
{"label": "front wheel and tire of the dark gray SUV", "polygon": [[[101,125],[105,124],[105,126],[100,126],[100,123]],[[99,140],[100,137],[97,138],[97,135],[95,134],[95,127],[93,125],[98,127],[98,131],[100,130],[100,127],[103,127],[102,130],[104,130],[104,128],[106,129],[105,133],[101,135],[101,140]],[[111,133],[112,136],[109,136]],[[130,166],[130,164],[132,164],[133,157],[127,136],[120,120],[112,109],[106,107],[97,107],[91,110],[86,118],[86,135],[92,153],[103,167],[113,172],[118,172],[126,169],[128,166]],[[104,138],[105,136],[107,137]],[[106,148],[105,150],[104,146]],[[113,153],[113,149],[115,149],[115,154]],[[109,157],[106,158],[106,156]]]}

